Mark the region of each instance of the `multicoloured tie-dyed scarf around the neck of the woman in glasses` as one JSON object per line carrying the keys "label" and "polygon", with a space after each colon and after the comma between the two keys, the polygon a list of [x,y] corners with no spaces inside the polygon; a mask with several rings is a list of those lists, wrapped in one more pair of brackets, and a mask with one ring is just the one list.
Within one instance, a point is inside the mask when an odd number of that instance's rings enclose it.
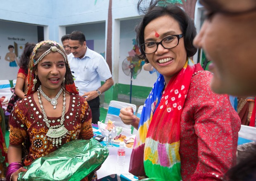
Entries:
{"label": "multicoloured tie-dyed scarf around the neck of the woman in glasses", "polygon": [[154,83],[142,110],[130,173],[157,181],[182,180],[180,118],[193,72],[194,63],[187,59],[183,69],[171,78],[165,90],[163,75],[159,75]]}

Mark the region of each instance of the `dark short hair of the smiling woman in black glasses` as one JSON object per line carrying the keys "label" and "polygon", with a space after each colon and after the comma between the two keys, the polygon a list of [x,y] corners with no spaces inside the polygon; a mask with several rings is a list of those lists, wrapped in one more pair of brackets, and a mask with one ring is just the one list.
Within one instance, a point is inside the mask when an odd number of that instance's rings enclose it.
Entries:
{"label": "dark short hair of the smiling woman in black glasses", "polygon": [[[191,19],[186,12],[183,11],[180,7],[165,3],[159,5],[159,2],[162,2],[161,0],[152,0],[150,2],[149,8],[145,11],[142,7],[142,0],[138,2],[137,9],[138,12],[141,14],[141,12],[145,13],[144,17],[140,21],[140,23],[136,26],[135,31],[137,33],[136,40],[138,45],[142,45],[145,43],[144,41],[144,30],[147,24],[149,24],[152,20],[169,15],[173,17],[176,21],[178,21],[178,24],[180,25],[180,29],[184,35],[184,45],[187,52],[187,56],[193,56],[197,52],[197,48],[193,45],[194,37],[197,35],[196,28],[194,26],[194,21]],[[166,22],[168,23],[168,22]],[[140,59],[145,59],[146,54],[143,51],[142,47],[140,46],[140,52],[141,55],[139,56]],[[145,61],[148,61],[147,59]]]}

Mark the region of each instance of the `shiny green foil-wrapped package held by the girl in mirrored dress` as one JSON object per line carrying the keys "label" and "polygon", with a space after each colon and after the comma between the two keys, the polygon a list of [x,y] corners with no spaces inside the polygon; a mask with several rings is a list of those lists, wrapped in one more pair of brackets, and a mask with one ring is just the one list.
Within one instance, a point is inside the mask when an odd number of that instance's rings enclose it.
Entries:
{"label": "shiny green foil-wrapped package held by the girl in mirrored dress", "polygon": [[80,181],[97,169],[109,155],[97,140],[73,140],[32,162],[18,181]]}

